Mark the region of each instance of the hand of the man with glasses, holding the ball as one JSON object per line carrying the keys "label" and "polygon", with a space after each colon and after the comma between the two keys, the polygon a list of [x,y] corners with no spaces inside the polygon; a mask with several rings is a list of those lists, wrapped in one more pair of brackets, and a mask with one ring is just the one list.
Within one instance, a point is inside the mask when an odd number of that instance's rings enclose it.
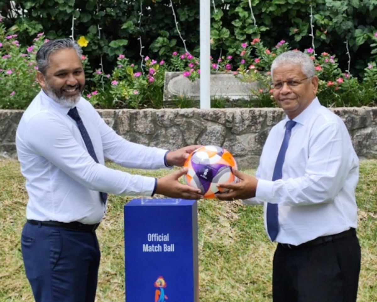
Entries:
{"label": "hand of the man with glasses, holding the ball", "polygon": [[229,191],[216,194],[216,198],[220,200],[235,200],[255,197],[258,180],[254,176],[244,174],[238,170],[233,170],[233,174],[238,178],[238,182],[219,183],[219,188],[227,188]]}

